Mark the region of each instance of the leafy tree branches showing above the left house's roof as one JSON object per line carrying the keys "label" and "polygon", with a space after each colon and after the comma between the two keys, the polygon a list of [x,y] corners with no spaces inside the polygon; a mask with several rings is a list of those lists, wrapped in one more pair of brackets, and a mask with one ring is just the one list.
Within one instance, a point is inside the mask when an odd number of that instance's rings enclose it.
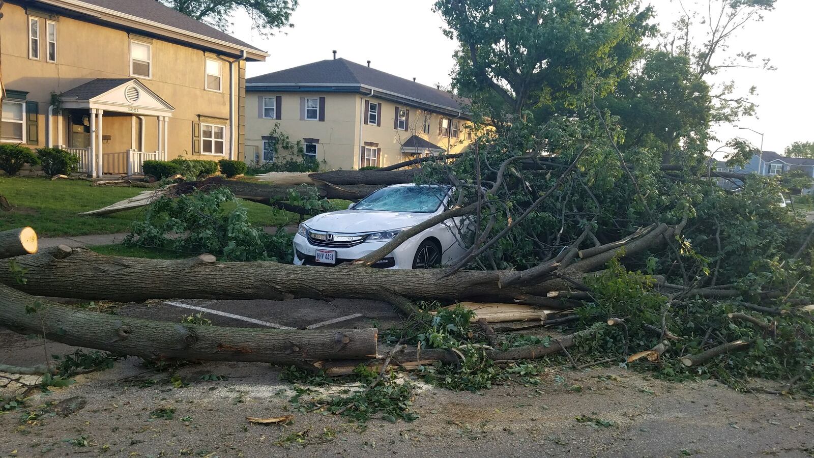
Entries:
{"label": "leafy tree branches showing above the left house's roof", "polygon": [[272,36],[282,27],[293,27],[291,13],[299,0],[156,0],[195,20],[227,31],[234,13],[245,11],[261,35]]}

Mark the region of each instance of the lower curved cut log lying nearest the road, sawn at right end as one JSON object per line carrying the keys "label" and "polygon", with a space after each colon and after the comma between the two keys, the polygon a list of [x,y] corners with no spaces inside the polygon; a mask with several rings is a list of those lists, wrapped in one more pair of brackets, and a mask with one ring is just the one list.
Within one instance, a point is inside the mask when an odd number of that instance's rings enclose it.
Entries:
{"label": "lower curved cut log lying nearest the road, sawn at right end", "polygon": [[0,324],[71,346],[145,359],[299,364],[376,356],[375,328],[282,331],[168,323],[59,306],[3,285]]}

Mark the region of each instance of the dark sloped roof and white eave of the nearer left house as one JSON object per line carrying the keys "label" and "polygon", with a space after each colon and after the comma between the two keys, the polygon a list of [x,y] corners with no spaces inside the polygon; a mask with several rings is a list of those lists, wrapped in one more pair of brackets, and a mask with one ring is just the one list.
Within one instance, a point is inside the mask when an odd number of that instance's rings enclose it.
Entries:
{"label": "dark sloped roof and white eave of the nearer left house", "polygon": [[[239,50],[250,51],[254,59],[262,60],[268,55],[265,51],[247,42],[221,32],[211,25],[192,19],[173,8],[166,7],[157,0],[37,0],[37,2],[51,7],[77,11],[81,14],[89,14],[94,19],[105,22],[110,19],[129,20],[142,25],[142,27],[136,28],[142,32],[155,33],[164,37],[173,37],[170,33],[176,32],[212,42],[222,42]],[[107,13],[110,17],[94,15],[91,11]]]}

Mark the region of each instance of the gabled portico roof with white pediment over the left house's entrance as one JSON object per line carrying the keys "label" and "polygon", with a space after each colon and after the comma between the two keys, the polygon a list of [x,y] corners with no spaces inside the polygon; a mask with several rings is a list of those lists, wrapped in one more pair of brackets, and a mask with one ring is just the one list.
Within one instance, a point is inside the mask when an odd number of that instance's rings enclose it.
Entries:
{"label": "gabled portico roof with white pediment over the left house's entrance", "polygon": [[96,78],[59,95],[63,108],[172,117],[172,105],[136,78]]}

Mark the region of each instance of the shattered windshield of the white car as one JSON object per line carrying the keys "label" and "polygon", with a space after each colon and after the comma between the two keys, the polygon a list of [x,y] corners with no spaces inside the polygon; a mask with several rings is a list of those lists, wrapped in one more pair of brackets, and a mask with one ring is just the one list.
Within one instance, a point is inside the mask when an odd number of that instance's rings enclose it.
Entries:
{"label": "shattered windshield of the white car", "polygon": [[449,192],[446,186],[384,187],[360,200],[355,210],[432,213]]}

